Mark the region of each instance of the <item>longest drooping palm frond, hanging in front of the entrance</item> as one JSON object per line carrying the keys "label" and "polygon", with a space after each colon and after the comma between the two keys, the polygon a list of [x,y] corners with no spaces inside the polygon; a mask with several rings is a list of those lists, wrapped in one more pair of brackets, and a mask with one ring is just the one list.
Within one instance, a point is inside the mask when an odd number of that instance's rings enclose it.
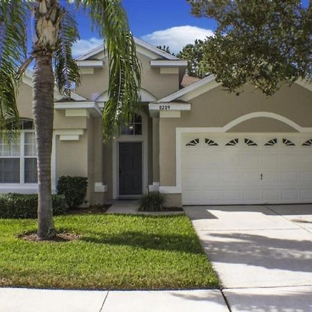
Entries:
{"label": "longest drooping palm frond, hanging in front of the entrance", "polygon": [[105,38],[109,60],[109,100],[103,112],[105,138],[116,135],[137,110],[141,67],[135,40],[130,32],[127,15],[120,0],[78,0]]}

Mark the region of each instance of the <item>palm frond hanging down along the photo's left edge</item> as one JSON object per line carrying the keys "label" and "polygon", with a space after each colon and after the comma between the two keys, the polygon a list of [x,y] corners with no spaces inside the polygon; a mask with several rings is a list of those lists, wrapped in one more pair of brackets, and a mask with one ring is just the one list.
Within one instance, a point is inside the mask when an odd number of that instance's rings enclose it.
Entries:
{"label": "palm frond hanging down along the photo's left edge", "polygon": [[19,119],[16,75],[26,58],[28,5],[22,0],[1,0],[0,3],[0,130],[8,130],[7,135]]}

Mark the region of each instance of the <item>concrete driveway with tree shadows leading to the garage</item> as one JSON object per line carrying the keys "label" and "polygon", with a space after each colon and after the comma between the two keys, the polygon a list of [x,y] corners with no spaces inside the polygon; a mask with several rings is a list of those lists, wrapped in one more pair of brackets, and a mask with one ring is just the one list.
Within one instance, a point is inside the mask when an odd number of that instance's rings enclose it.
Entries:
{"label": "concrete driveway with tree shadows leading to the garage", "polygon": [[312,311],[312,205],[184,210],[232,311]]}

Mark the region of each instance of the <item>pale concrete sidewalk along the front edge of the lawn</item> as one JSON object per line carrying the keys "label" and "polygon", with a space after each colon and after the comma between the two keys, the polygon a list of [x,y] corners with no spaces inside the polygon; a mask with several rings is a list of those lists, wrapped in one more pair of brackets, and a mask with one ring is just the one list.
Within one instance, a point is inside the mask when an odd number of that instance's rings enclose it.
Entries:
{"label": "pale concrete sidewalk along the front edge of the lawn", "polygon": [[0,312],[229,312],[221,291],[0,288]]}

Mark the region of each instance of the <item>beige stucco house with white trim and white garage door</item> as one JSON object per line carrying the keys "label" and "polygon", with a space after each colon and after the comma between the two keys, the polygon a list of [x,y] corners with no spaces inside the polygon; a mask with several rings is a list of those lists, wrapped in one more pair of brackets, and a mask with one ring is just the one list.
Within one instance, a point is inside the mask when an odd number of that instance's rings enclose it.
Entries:
{"label": "beige stucco house with white trim and white garage door", "polygon": [[[83,81],[62,101],[55,91],[53,189],[61,175],[88,177],[89,204],[135,198],[147,188],[168,205],[312,202],[312,88],[304,82],[266,98],[254,87],[229,94],[208,76],[182,88],[186,62],[136,40],[141,112],[103,142],[107,100],[103,46],[78,58]],[[34,193],[31,73],[18,97],[24,130],[0,141],[0,192]]]}

